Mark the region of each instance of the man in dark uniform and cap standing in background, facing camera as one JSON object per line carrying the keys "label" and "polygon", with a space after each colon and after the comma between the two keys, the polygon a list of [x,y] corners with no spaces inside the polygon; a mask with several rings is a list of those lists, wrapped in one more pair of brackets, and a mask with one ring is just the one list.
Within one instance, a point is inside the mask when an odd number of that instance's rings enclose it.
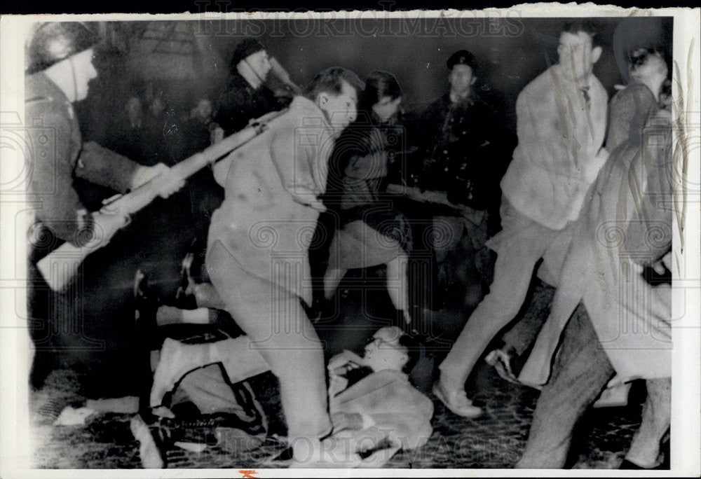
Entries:
{"label": "man in dark uniform and cap standing in background, facing camera", "polygon": [[484,246],[488,211],[491,209],[498,216],[498,182],[510,157],[510,141],[504,141],[508,137],[504,136],[496,111],[475,93],[475,55],[459,50],[449,57],[447,67],[449,91],[430,104],[421,117],[426,156],[419,183],[424,190],[447,193],[447,200],[460,204],[467,218],[434,218],[434,223],[440,222],[443,229],[449,225],[455,239],[454,244],[437,248],[439,268],[450,268],[442,265],[443,260],[462,240],[469,256],[464,262],[471,270],[468,277],[484,278],[489,277],[492,262]]}

